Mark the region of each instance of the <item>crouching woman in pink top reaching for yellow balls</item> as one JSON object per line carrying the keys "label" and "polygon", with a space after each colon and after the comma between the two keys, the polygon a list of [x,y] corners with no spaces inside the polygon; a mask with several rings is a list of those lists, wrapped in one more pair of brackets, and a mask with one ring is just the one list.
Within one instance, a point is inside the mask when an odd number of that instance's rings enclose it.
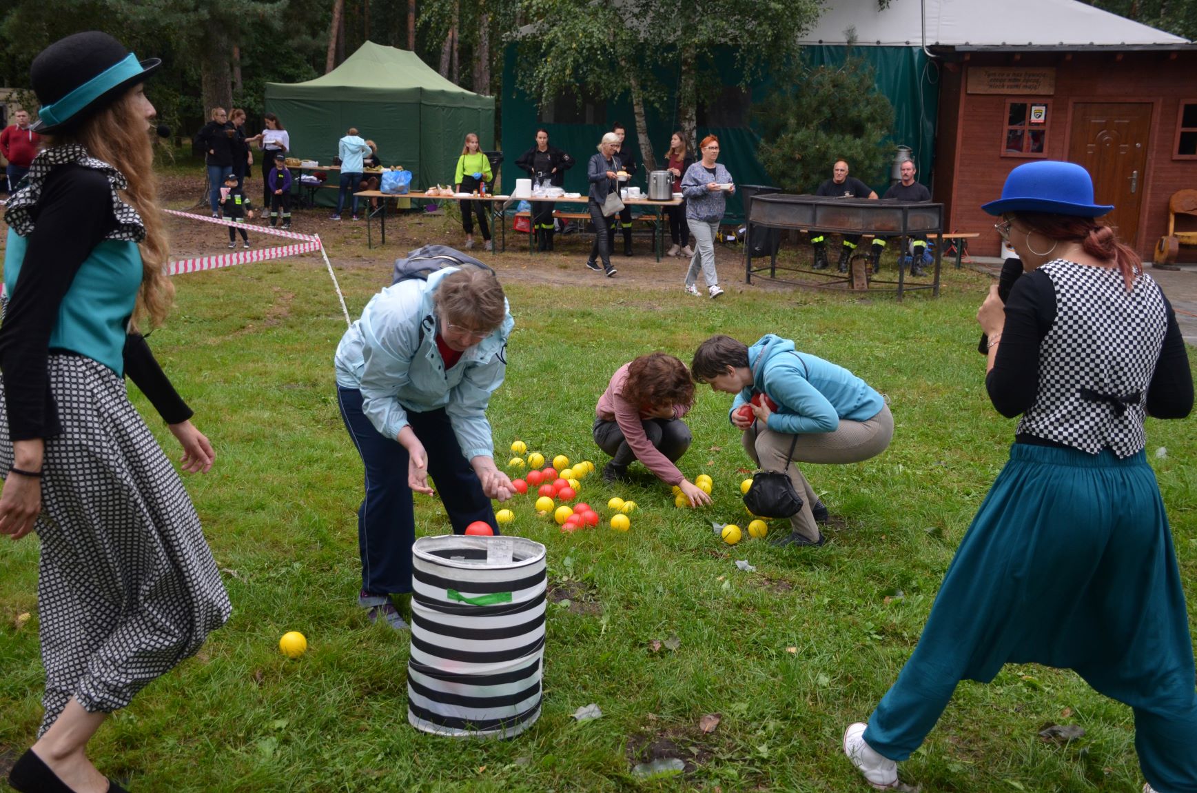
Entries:
{"label": "crouching woman in pink top reaching for yellow balls", "polygon": [[694,383],[678,358],[654,352],[620,367],[595,408],[595,443],[612,458],[602,478],[622,482],[639,460],[661,482],[681,488],[692,507],[711,503],[674,465],[689,448],[681,417],[693,404]]}

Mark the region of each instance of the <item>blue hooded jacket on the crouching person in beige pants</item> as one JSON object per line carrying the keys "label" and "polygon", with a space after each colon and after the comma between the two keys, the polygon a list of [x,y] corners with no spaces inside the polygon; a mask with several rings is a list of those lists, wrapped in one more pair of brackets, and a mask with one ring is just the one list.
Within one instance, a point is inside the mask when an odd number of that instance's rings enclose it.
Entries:
{"label": "blue hooded jacket on the crouching person in beige pants", "polygon": [[777,410],[768,417],[774,432],[834,432],[839,419],[867,422],[886,406],[885,398],[847,369],[807,352],[789,339],[762,335],[748,347],[753,383],[736,394],[731,413],[762,392]]}

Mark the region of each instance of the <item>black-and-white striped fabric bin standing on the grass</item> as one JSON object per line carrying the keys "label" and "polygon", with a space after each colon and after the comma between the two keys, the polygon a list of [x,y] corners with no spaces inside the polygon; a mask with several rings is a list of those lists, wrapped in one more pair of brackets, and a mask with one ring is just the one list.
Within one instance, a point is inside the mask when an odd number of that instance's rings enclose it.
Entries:
{"label": "black-and-white striped fabric bin standing on the grass", "polygon": [[545,546],[522,537],[415,540],[407,662],[413,727],[511,738],[540,718],[545,567]]}

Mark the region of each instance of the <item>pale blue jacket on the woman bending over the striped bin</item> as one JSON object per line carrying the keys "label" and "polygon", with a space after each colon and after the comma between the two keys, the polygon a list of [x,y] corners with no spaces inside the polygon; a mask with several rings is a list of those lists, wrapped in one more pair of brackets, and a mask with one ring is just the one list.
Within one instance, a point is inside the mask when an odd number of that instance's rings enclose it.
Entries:
{"label": "pale blue jacket on the woman bending over the striped bin", "polygon": [[336,385],[361,392],[361,411],[389,438],[408,425],[407,412],[445,408],[467,460],[494,456],[486,406],[506,374],[510,308],[503,325],[445,371],[437,350],[439,319],[432,296],[456,267],[382,290],[336,347]]}

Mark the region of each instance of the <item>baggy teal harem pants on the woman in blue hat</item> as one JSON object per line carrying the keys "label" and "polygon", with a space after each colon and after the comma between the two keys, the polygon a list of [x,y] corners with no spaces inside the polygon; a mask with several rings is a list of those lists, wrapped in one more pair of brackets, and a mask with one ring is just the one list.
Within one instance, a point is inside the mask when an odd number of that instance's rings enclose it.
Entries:
{"label": "baggy teal harem pants on the woman in blue hat", "polygon": [[965,534],[918,647],[864,740],[910,757],[962,679],[1003,664],[1071,668],[1135,712],[1135,749],[1160,793],[1197,793],[1197,694],[1185,597],[1155,473],[1015,443]]}

